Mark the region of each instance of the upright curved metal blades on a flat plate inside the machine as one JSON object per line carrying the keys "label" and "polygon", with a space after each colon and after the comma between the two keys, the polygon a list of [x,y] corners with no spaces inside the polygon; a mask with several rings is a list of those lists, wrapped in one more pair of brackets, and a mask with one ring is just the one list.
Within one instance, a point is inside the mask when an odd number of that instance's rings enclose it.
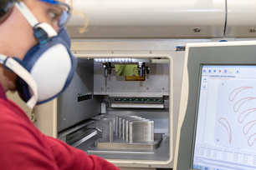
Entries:
{"label": "upright curved metal blades on a flat plate inside the machine", "polygon": [[95,148],[154,149],[161,143],[162,135],[154,135],[154,121],[138,116],[115,117],[115,137],[113,120],[104,118],[102,138],[95,141]]}

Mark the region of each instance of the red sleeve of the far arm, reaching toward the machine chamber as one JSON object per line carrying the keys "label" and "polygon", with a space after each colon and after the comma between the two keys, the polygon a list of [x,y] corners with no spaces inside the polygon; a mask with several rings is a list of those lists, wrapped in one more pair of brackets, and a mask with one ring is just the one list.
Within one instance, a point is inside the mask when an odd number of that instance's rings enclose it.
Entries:
{"label": "red sleeve of the far arm, reaching toward the machine chamber", "polygon": [[105,159],[87,155],[84,151],[70,147],[67,143],[59,139],[46,137],[47,143],[54,154],[54,158],[61,170],[68,169],[94,169],[94,170],[117,170],[115,165],[107,162]]}

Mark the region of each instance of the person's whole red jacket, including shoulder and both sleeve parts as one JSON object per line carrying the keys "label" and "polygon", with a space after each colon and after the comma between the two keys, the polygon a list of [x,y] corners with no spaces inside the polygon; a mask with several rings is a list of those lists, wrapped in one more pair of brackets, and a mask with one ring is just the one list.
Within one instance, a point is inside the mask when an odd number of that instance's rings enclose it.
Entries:
{"label": "person's whole red jacket, including shoulder and both sleeve parts", "polygon": [[103,158],[45,136],[20,107],[1,98],[0,154],[1,170],[119,169]]}

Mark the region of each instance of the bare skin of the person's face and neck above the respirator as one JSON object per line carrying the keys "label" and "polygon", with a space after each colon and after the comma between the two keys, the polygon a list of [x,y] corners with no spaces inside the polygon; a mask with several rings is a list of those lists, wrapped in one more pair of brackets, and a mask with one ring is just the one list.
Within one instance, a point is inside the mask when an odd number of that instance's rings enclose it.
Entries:
{"label": "bare skin of the person's face and neck above the respirator", "polygon": [[[15,1],[1,0],[1,6],[7,5],[8,2]],[[59,29],[58,20],[59,14],[61,14],[59,5],[49,3],[51,1],[41,0],[23,0],[23,2],[34,17],[38,19],[39,23],[49,23],[56,31]],[[33,36],[33,28],[23,17],[23,14],[18,11],[17,7],[11,7],[6,16],[8,18],[3,16],[5,19],[0,23],[0,53],[23,59],[26,52],[38,44],[38,40]]]}

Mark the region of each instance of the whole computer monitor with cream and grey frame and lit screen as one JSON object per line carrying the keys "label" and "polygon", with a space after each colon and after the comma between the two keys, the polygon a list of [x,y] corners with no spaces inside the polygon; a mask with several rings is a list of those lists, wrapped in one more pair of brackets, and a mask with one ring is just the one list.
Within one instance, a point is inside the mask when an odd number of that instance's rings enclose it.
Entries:
{"label": "whole computer monitor with cream and grey frame and lit screen", "polygon": [[186,50],[174,170],[256,169],[256,42]]}

